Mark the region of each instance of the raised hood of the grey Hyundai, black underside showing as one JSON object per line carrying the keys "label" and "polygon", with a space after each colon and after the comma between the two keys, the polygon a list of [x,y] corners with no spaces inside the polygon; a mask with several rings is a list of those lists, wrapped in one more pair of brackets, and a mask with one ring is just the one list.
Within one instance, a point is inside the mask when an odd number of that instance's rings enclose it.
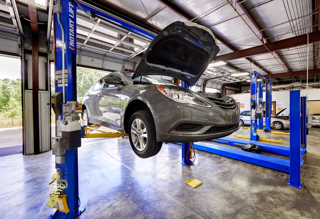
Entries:
{"label": "raised hood of the grey Hyundai, black underside showing", "polygon": [[176,21],[165,27],[149,45],[132,79],[165,75],[193,86],[220,51],[211,30]]}

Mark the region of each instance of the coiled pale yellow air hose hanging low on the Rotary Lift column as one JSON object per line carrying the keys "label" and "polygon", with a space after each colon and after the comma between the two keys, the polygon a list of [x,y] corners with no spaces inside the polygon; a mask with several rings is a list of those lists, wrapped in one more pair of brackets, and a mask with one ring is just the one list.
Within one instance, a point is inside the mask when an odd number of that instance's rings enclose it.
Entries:
{"label": "coiled pale yellow air hose hanging low on the Rotary Lift column", "polygon": [[51,176],[51,179],[51,195],[47,201],[47,207],[50,208],[57,204],[60,192],[68,186],[67,181],[60,179],[60,174],[58,172],[54,173]]}

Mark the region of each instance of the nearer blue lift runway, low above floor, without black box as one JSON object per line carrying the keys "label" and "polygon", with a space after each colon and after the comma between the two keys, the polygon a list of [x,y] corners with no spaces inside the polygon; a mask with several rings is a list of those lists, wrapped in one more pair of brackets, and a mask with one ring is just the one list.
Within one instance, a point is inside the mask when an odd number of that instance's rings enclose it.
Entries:
{"label": "nearer blue lift runway, low above floor, without black box", "polygon": [[289,173],[290,171],[289,160],[241,151],[234,148],[228,148],[228,147],[219,146],[219,145],[212,145],[210,143],[205,143],[205,142],[196,142],[195,148],[201,151],[206,151],[206,152],[218,154],[224,157],[241,160],[241,161],[256,164],[262,167],[279,170],[285,173]]}

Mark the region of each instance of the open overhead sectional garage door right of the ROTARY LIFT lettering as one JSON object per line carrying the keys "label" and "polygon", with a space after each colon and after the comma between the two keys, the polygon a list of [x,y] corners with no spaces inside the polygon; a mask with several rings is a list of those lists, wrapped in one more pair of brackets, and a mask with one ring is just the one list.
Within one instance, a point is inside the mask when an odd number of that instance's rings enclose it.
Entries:
{"label": "open overhead sectional garage door right of the ROTARY LIFT lettering", "polygon": [[[77,10],[76,22],[76,62],[79,66],[111,71],[121,71],[123,68],[132,70],[134,63],[140,60],[140,57],[133,57],[148,48],[152,41],[151,38],[129,31],[102,17],[90,19],[81,10]],[[53,37],[51,43],[52,39]],[[53,44],[51,52],[50,58],[53,59]],[[127,61],[128,59],[130,60]]]}

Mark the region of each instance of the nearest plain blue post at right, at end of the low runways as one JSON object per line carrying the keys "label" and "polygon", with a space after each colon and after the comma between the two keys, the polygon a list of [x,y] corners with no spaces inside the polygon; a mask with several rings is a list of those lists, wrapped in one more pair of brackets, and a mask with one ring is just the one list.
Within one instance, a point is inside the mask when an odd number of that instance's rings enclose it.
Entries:
{"label": "nearest plain blue post at right, at end of the low runways", "polygon": [[290,179],[288,185],[302,189],[300,90],[290,90]]}

